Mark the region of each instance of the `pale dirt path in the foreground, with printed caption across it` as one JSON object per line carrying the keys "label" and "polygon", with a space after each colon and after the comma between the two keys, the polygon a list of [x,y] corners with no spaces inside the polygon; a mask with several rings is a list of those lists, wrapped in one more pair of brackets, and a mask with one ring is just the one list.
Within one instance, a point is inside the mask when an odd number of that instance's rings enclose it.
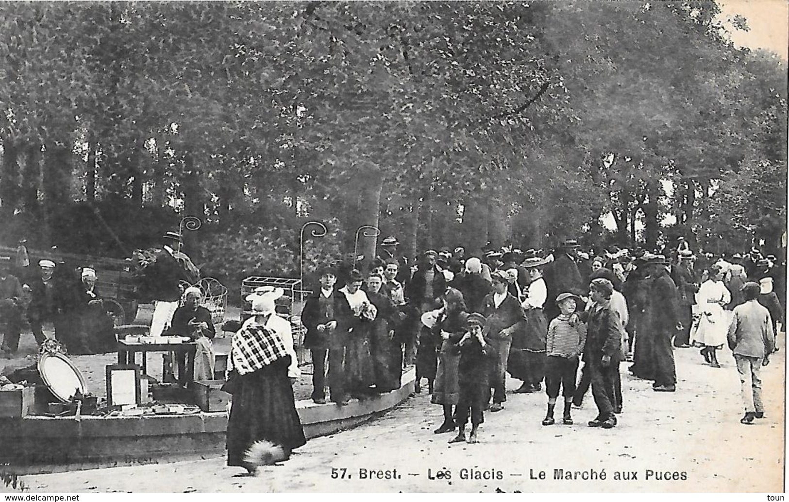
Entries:
{"label": "pale dirt path in the foreground, with printed caption across it", "polygon": [[[574,410],[575,425],[550,427],[540,425],[544,394],[509,395],[505,410],[486,414],[481,443],[449,445],[451,436],[432,433],[440,408],[423,394],[357,429],[310,440],[289,461],[263,468],[256,478],[234,478],[239,469],[216,458],[23,481],[34,492],[781,491],[786,351],[763,373],[768,417],[750,426],[739,423],[739,376],[731,354],[721,355],[721,369],[702,365],[694,349],[675,354],[680,381],[674,394],[653,392],[622,365],[625,409],[610,430],[586,426],[596,415],[591,395]],[[508,387],[514,386],[510,380]],[[332,478],[332,468],[338,475],[346,469],[350,478]],[[384,479],[361,479],[360,469],[388,470],[391,478],[384,472]],[[559,469],[578,471],[578,479],[555,478]],[[443,470],[450,479],[437,478]],[[597,479],[603,470],[606,478]],[[649,471],[654,474],[647,478]],[[616,472],[637,478],[615,479]],[[664,479],[675,472],[682,479]]]}

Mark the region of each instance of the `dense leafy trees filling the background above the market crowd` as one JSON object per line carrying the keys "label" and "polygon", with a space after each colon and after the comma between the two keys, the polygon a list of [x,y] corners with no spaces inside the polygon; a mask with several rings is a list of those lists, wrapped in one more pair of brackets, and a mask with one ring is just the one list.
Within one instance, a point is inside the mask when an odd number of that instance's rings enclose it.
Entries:
{"label": "dense leafy trees filling the background above the market crowd", "polygon": [[297,272],[311,219],[331,219],[311,266],[365,224],[410,253],[678,234],[777,248],[787,66],[734,47],[719,14],[712,0],[6,3],[0,243],[129,256],[200,215],[190,254],[222,276]]}

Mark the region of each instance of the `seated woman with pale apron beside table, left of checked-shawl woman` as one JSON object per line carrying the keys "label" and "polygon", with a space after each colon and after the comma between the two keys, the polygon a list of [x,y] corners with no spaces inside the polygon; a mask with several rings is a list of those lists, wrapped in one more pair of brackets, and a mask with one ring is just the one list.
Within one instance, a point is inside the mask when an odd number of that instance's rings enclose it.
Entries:
{"label": "seated woman with pale apron beside table, left of checked-shawl woman", "polygon": [[[195,354],[195,380],[214,379],[214,347],[211,343],[216,335],[211,312],[200,306],[203,293],[200,288],[189,287],[184,291],[184,305],[175,309],[168,335],[189,336],[197,343]],[[178,354],[178,375],[185,375],[186,354]]]}

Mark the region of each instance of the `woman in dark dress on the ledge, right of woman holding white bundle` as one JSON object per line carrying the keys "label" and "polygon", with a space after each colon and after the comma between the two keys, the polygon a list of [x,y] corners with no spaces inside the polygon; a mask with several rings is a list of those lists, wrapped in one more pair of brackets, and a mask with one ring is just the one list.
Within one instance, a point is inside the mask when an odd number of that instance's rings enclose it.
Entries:
{"label": "woman in dark dress on the ledge, right of woman holding white bundle", "polygon": [[391,299],[381,292],[383,275],[368,275],[367,298],[376,307],[378,314],[369,325],[370,354],[376,391],[389,392],[400,388],[402,377],[402,343],[394,337],[394,325],[400,312]]}

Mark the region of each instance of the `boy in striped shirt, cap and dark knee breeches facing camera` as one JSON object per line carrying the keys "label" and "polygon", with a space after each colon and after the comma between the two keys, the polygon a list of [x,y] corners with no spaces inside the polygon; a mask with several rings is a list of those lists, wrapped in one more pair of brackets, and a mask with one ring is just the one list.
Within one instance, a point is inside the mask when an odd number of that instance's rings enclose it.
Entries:
{"label": "boy in striped shirt, cap and dark knee breeches facing camera", "polygon": [[570,315],[575,312],[578,297],[571,293],[562,293],[556,297],[559,305],[559,316],[551,320],[548,325],[548,336],[545,339],[548,363],[545,372],[545,392],[548,394],[548,413],[545,415],[543,425],[553,425],[553,410],[556,398],[559,397],[559,388],[564,396],[564,414],[562,422],[566,425],[573,423],[570,417],[570,406],[573,403],[575,392],[575,374],[578,373],[578,358],[583,354],[586,342],[586,327],[584,324],[570,324]]}

